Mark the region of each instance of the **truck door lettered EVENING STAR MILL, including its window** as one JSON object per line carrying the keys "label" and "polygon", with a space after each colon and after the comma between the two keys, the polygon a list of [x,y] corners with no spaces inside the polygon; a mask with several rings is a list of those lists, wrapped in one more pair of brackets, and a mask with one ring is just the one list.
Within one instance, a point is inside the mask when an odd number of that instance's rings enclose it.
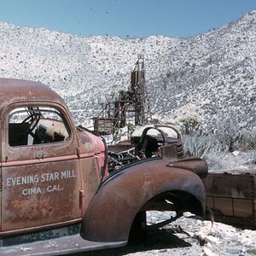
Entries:
{"label": "truck door lettered EVENING STAR MILL, including its window", "polygon": [[10,234],[81,219],[73,122],[58,104],[23,106],[11,105],[3,117],[1,219]]}

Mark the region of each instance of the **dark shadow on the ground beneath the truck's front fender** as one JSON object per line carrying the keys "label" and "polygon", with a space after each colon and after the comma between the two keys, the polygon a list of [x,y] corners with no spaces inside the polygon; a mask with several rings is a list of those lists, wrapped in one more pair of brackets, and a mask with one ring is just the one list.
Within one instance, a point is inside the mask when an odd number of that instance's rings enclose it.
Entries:
{"label": "dark shadow on the ground beneath the truck's front fender", "polygon": [[173,230],[154,230],[148,232],[147,240],[137,245],[128,244],[125,247],[106,249],[101,251],[93,251],[87,253],[74,253],[71,256],[118,256],[129,253],[144,252],[148,250],[164,250],[170,248],[190,247],[189,242],[175,236]]}

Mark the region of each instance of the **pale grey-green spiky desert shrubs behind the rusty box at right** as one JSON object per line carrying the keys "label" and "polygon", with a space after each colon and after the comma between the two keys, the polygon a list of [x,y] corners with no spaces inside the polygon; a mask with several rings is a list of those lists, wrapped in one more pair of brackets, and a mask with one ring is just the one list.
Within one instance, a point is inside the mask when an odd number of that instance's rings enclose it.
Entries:
{"label": "pale grey-green spiky desert shrubs behind the rusty box at right", "polygon": [[[188,120],[185,125],[191,123]],[[256,127],[242,133],[234,120],[224,119],[212,133],[203,135],[192,129],[189,134],[183,133],[182,141],[185,154],[206,160],[210,170],[236,169],[244,162],[232,152],[235,149],[256,150]]]}

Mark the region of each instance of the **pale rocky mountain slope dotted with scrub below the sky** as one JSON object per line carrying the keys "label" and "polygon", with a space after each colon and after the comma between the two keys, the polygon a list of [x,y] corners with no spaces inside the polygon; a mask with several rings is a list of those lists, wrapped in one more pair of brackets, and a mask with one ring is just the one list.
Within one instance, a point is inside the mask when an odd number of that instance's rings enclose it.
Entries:
{"label": "pale rocky mountain slope dotted with scrub below the sky", "polygon": [[0,22],[0,45],[0,77],[48,84],[78,124],[128,89],[138,54],[154,118],[192,116],[206,129],[227,117],[256,124],[256,11],[193,38],[84,38]]}

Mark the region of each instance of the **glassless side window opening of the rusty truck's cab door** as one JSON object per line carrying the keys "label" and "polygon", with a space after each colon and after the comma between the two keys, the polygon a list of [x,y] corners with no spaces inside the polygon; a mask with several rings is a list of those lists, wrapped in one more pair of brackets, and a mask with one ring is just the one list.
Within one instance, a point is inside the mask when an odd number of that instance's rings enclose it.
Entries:
{"label": "glassless side window opening of the rusty truck's cab door", "polygon": [[9,145],[24,146],[58,143],[70,137],[70,129],[55,108],[15,108],[9,113]]}

